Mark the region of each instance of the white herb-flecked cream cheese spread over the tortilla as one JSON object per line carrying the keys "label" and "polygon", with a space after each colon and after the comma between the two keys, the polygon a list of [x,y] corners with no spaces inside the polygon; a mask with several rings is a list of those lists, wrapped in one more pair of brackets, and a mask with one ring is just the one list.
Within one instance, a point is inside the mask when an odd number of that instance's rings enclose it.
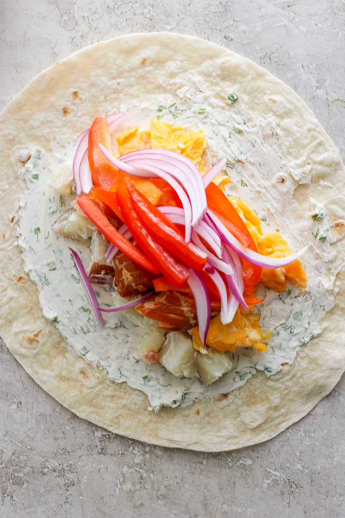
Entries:
{"label": "white herb-flecked cream cheese spread over the tortilla", "polygon": [[[322,332],[325,312],[334,305],[339,268],[332,250],[335,239],[330,230],[328,208],[310,198],[310,213],[306,214],[292,199],[299,183],[310,182],[310,174],[289,158],[274,118],[253,120],[235,93],[229,94],[233,96],[228,97],[229,109],[220,109],[216,99],[202,92],[202,84],[191,88],[183,84],[182,79],[176,78],[176,81],[177,98],[167,96],[156,99],[151,107],[142,106],[142,112],[146,110],[148,115],[141,125],[147,125],[147,118],[163,117],[171,124],[204,130],[210,165],[220,157],[227,157],[226,172],[231,182],[226,186],[226,194],[242,198],[257,212],[264,233],[279,229],[293,250],[308,245],[302,257],[308,278],[307,290],[288,284],[285,292],[276,293],[259,285],[258,297],[265,300],[254,311],[259,314],[262,330],[267,336],[272,335],[265,340],[267,352],[239,348],[228,353],[232,370],[212,385],[204,386],[199,378],[174,376],[159,362],[144,363],[138,344],[151,339],[155,323],[148,322],[134,309],[103,313],[104,328],[96,324],[83,285],[75,276],[68,249],[69,246],[75,248],[83,264],[88,265],[90,242],[73,241],[52,231],[59,215],[71,207],[75,197],[67,189],[59,197],[60,193],[47,181],[54,171],[64,170],[67,174],[65,163],[71,163],[74,149],[65,150],[64,156],[35,148],[20,171],[28,191],[19,207],[18,241],[25,271],[39,290],[44,316],[79,355],[107,369],[110,380],[126,382],[147,394],[149,409],[155,411],[162,406],[190,405],[205,396],[228,393],[239,389],[259,371],[269,377],[278,372],[283,363],[293,363],[298,349],[306,347]],[[178,81],[181,81],[180,87]],[[230,139],[229,128],[233,128]],[[33,175],[35,182],[31,181]],[[101,307],[124,304],[124,299],[112,290],[98,290]]]}

